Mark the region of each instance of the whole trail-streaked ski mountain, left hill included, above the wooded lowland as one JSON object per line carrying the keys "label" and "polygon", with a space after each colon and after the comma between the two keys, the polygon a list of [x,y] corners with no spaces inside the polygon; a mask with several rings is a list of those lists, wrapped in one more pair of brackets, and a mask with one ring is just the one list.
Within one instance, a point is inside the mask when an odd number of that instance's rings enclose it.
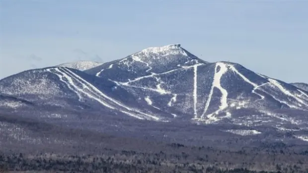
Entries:
{"label": "whole trail-streaked ski mountain, left hill included, above the wooded lowland", "polygon": [[66,125],[74,122],[78,128],[95,125],[82,125],[76,114],[105,122],[216,124],[237,135],[275,129],[308,137],[308,91],[238,63],[207,62],[179,44],[144,49],[85,71],[59,66],[24,71],[0,80],[0,96],[2,110],[35,117],[57,110],[66,115]]}

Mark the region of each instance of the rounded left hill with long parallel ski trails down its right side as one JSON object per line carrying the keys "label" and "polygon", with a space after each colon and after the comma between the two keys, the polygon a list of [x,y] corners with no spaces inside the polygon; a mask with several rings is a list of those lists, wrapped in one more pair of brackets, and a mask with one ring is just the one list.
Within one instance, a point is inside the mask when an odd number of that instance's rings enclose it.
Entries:
{"label": "rounded left hill with long parallel ski trails down its right side", "polygon": [[139,111],[147,108],[145,102],[134,104],[132,101],[137,99],[112,81],[65,67],[29,70],[4,78],[0,80],[0,93],[1,105],[7,103],[7,98],[16,98],[38,107],[102,110],[140,119],[160,117],[152,115],[151,108],[146,113]]}

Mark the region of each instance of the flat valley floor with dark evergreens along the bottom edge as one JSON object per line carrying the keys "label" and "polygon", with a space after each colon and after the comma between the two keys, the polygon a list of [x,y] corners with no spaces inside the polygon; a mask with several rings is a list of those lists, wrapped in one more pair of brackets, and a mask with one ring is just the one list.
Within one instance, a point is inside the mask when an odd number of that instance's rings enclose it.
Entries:
{"label": "flat valley floor with dark evergreens along the bottom edge", "polygon": [[308,173],[308,151],[231,152],[181,144],[172,148],[153,153],[108,150],[100,155],[2,153],[0,173]]}

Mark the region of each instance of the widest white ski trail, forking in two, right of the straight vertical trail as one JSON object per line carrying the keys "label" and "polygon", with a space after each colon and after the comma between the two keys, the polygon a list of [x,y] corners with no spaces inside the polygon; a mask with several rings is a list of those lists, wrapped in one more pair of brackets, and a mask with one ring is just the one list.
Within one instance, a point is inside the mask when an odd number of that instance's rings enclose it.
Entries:
{"label": "widest white ski trail, forking in two, right of the straight vertical trail", "polygon": [[[218,67],[220,67],[220,70],[217,72],[217,68]],[[228,103],[227,103],[228,92],[220,84],[220,79],[223,76],[223,74],[225,74],[227,72],[227,70],[228,70],[228,68],[227,68],[226,64],[224,64],[222,62],[217,62],[216,63],[215,74],[214,74],[214,79],[213,79],[211,91],[210,91],[210,94],[209,94],[209,98],[208,98],[208,100],[207,100],[207,102],[205,104],[205,108],[204,108],[204,111],[203,111],[203,113],[201,115],[201,118],[204,118],[206,112],[208,111],[208,108],[210,106],[210,102],[211,102],[211,99],[212,99],[214,87],[218,88],[221,91],[221,93],[222,93],[221,106],[219,107],[218,111],[221,111],[221,110],[223,110],[223,109],[228,107]]]}

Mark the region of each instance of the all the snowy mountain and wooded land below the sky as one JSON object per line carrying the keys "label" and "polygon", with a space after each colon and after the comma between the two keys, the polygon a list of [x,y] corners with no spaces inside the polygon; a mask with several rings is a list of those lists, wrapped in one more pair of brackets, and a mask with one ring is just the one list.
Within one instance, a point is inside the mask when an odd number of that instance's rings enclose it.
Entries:
{"label": "all the snowy mountain and wooded land below the sky", "polygon": [[23,71],[0,80],[0,148],[8,171],[306,173],[308,84],[179,44]]}

